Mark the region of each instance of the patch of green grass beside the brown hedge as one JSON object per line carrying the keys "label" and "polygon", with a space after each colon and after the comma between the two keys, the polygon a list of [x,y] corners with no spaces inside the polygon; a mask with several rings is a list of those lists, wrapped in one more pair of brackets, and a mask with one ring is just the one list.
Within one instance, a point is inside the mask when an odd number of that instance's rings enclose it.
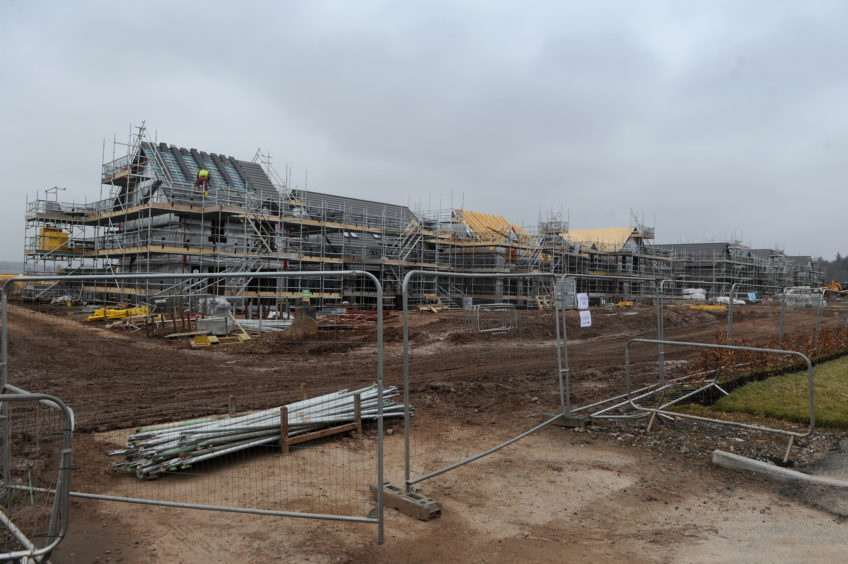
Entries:
{"label": "patch of green grass beside the brown hedge", "polygon": [[[816,426],[848,429],[848,356],[816,365],[813,391]],[[711,409],[809,424],[809,401],[804,370],[746,384],[715,402]]]}

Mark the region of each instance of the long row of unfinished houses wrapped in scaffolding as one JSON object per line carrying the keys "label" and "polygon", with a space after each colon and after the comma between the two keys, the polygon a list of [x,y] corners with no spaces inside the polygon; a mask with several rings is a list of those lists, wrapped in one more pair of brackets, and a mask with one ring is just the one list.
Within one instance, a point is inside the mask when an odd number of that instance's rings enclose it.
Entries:
{"label": "long row of unfinished houses wrapped in scaffolding", "polygon": [[[74,289],[104,303],[157,297],[226,296],[284,307],[309,290],[321,305],[373,305],[374,288],[355,278],[198,277],[173,282],[162,273],[251,273],[364,270],[382,283],[386,307],[397,307],[410,270],[488,273],[462,282],[417,279],[413,302],[438,299],[536,307],[553,288],[506,273],[588,275],[579,284],[598,300],[648,295],[661,279],[768,281],[817,285],[820,263],[779,251],[710,243],[654,245],[641,225],[569,230],[551,217],[534,229],[463,209],[416,210],[288,186],[257,152],[250,161],[151,140],[143,127],[120,156],[102,165],[100,196],[65,203],[47,191],[27,203],[25,271],[144,274],[143,281]],[[208,185],[195,188],[198,171]],[[797,259],[797,260],[796,260]],[[806,261],[804,261],[806,259]],[[629,280],[628,280],[629,278]],[[67,292],[65,285],[26,289],[32,298]]]}

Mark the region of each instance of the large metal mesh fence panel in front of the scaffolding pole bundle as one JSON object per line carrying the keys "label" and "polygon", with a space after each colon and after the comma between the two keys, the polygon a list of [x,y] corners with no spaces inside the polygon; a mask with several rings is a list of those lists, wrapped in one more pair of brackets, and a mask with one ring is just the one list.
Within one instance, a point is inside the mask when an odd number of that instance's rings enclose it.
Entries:
{"label": "large metal mesh fence panel in front of the scaffolding pole bundle", "polygon": [[[216,296],[221,278],[256,291]],[[18,278],[124,303],[12,303],[4,288],[3,381],[74,409],[75,497],[371,523],[382,542],[371,486],[383,482],[383,418],[402,415],[383,390],[383,311],[368,331],[324,330],[310,306],[339,314],[348,279],[382,303],[365,271]],[[244,318],[291,323],[259,332]]]}

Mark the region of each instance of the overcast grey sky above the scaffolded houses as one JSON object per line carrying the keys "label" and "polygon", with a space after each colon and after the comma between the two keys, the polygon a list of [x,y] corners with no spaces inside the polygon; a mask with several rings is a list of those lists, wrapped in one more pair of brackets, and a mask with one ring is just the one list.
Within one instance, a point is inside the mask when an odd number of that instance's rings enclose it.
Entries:
{"label": "overcast grey sky above the scaffolded houses", "polygon": [[[26,198],[101,198],[103,144],[656,242],[848,252],[848,3],[0,0],[0,260]],[[105,195],[103,196],[105,197]]]}

